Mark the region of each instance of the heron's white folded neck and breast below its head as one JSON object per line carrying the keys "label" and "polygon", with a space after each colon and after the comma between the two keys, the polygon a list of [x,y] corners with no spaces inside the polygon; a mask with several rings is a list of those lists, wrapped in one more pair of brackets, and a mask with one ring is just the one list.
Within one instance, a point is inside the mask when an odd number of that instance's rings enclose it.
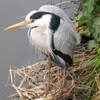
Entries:
{"label": "heron's white folded neck and breast below its head", "polygon": [[41,31],[36,31],[35,29],[29,29],[28,37],[32,45],[37,46],[40,51],[42,51],[44,54],[52,54],[52,48],[51,48],[51,38],[52,38],[52,32],[50,29],[43,30],[41,28]]}

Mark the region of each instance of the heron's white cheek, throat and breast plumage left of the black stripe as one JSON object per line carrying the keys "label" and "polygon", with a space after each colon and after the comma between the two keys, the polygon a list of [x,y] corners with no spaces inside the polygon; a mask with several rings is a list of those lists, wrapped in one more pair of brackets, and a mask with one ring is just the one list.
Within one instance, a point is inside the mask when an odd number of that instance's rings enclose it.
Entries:
{"label": "heron's white cheek, throat and breast plumage left of the black stripe", "polygon": [[53,33],[49,28],[51,17],[51,15],[46,14],[42,18],[35,20],[28,31],[28,37],[32,45],[37,46],[46,55],[52,54],[51,36]]}

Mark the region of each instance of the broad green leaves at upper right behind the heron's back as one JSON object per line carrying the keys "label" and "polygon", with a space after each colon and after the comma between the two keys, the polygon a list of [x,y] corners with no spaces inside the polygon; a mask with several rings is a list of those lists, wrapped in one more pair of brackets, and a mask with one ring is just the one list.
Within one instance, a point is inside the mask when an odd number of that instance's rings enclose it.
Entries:
{"label": "broad green leaves at upper right behind the heron's back", "polygon": [[[82,1],[82,0],[81,0]],[[89,50],[100,43],[100,0],[84,0],[82,10],[74,19],[81,36],[93,38],[89,41]]]}

